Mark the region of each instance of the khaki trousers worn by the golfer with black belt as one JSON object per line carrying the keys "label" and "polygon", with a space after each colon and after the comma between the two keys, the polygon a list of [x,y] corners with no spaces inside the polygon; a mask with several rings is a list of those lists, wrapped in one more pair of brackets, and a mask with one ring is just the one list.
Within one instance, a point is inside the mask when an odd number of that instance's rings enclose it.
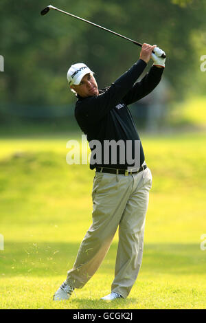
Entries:
{"label": "khaki trousers worn by the golfer with black belt", "polygon": [[78,250],[67,284],[82,288],[106,256],[119,226],[115,278],[111,291],[126,298],[133,287],[144,247],[144,226],[152,175],[149,168],[134,175],[96,172],[93,180],[93,223]]}

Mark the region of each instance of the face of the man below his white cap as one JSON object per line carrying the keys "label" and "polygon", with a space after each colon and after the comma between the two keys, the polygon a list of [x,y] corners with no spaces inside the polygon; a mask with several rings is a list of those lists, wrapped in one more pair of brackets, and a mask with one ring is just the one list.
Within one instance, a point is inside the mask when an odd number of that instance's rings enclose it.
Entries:
{"label": "face of the man below his white cap", "polygon": [[71,85],[71,89],[82,98],[99,95],[97,82],[91,73],[84,75],[79,85]]}

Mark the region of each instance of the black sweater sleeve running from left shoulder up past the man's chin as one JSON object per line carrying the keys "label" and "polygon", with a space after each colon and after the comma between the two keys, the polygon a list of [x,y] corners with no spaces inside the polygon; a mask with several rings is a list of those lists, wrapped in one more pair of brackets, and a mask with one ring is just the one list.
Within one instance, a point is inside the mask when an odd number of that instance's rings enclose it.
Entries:
{"label": "black sweater sleeve running from left shoulder up past the man's chin", "polygon": [[146,67],[144,60],[139,59],[128,71],[112,83],[104,93],[80,100],[76,104],[76,118],[92,124],[104,118],[106,113],[121,101]]}

